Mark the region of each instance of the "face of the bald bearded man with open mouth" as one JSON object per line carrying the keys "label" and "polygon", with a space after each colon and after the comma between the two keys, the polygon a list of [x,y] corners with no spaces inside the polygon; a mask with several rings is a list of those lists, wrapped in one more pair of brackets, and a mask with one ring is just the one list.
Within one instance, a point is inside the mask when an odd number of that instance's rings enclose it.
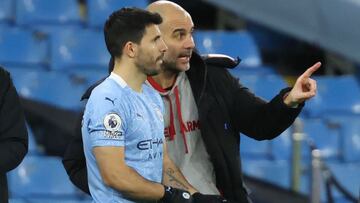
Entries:
{"label": "face of the bald bearded man with open mouth", "polygon": [[169,12],[162,16],[160,25],[164,41],[168,47],[164,55],[163,68],[173,72],[182,72],[190,68],[190,57],[194,50],[194,24],[191,16],[183,12]]}

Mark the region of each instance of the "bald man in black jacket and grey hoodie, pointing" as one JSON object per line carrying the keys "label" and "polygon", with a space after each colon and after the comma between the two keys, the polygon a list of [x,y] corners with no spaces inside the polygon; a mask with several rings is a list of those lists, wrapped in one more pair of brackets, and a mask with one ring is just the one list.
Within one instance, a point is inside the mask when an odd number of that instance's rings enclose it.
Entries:
{"label": "bald man in black jacket and grey hoodie, pointing", "polygon": [[[310,76],[320,63],[301,75],[292,89],[282,90],[267,103],[224,67],[207,63],[193,52],[193,23],[183,8],[157,1],[148,9],[163,17],[159,27],[168,46],[162,72],[147,83],[164,100],[170,157],[201,193],[249,202],[241,175],[239,133],[257,140],[280,135],[300,113],[303,102],[315,95],[316,82]],[[87,191],[81,144],[77,139],[69,146],[63,163],[74,184]],[[167,171],[169,177],[173,173]],[[207,196],[198,193],[194,200],[206,202]]]}

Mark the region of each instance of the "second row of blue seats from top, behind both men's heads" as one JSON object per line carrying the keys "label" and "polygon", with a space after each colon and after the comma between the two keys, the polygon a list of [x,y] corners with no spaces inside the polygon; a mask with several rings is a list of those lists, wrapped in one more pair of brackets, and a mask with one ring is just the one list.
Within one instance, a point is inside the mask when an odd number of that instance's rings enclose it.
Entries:
{"label": "second row of blue seats from top, behind both men's heads", "polygon": [[[241,56],[243,66],[261,64],[248,32],[198,31],[194,38],[200,53]],[[104,69],[109,58],[103,33],[98,30],[76,26],[0,27],[0,64],[5,66]]]}

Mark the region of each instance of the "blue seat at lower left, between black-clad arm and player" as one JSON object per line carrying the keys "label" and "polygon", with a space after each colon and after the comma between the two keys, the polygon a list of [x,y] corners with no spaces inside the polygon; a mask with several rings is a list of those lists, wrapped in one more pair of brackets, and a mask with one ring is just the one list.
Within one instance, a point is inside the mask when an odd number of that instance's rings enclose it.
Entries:
{"label": "blue seat at lower left, between black-clad arm and player", "polygon": [[75,198],[79,191],[72,185],[60,158],[26,156],[8,173],[12,198]]}

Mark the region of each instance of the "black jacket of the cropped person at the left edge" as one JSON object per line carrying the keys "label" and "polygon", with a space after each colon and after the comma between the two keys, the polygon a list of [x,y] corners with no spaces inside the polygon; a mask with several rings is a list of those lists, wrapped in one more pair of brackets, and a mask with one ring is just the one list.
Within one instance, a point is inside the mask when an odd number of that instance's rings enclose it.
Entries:
{"label": "black jacket of the cropped person at the left edge", "polygon": [[28,149],[19,96],[10,75],[0,67],[0,202],[8,202],[6,173],[16,168]]}

